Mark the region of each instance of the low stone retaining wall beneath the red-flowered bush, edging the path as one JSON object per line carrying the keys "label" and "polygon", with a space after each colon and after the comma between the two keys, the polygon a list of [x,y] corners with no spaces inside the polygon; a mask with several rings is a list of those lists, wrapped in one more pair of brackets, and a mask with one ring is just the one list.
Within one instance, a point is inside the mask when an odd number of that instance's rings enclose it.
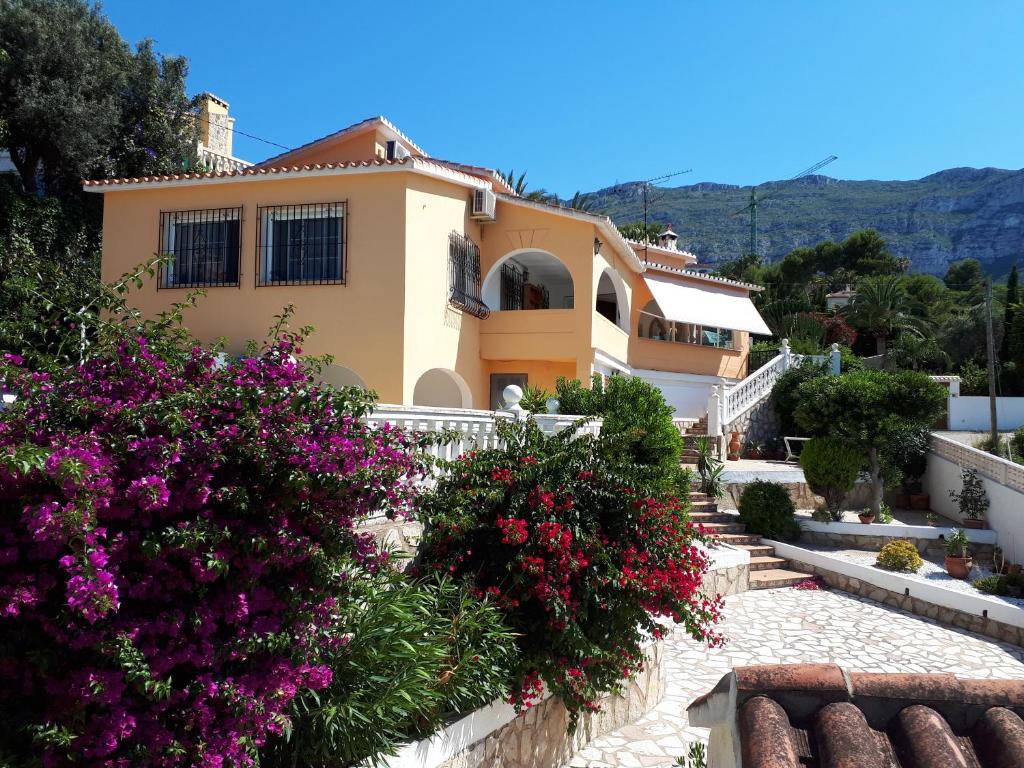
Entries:
{"label": "low stone retaining wall beneath the red-flowered bush, edging the path", "polygon": [[631,680],[620,696],[601,699],[601,712],[580,716],[569,734],[568,711],[561,699],[551,697],[523,713],[440,768],[552,768],[564,765],[591,740],[640,718],[665,696],[664,644],[647,649],[644,670]]}

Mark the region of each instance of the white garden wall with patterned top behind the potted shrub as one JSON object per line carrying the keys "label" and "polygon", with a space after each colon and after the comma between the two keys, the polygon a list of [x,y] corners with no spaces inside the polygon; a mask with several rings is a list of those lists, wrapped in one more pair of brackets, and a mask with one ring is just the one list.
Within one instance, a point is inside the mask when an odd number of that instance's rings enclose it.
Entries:
{"label": "white garden wall with patterned top behind the potted shrub", "polygon": [[999,547],[1012,562],[1024,562],[1024,467],[933,435],[925,490],[932,497],[932,509],[954,520],[959,510],[949,492],[963,487],[965,467],[977,469],[985,485],[990,503],[986,522]]}

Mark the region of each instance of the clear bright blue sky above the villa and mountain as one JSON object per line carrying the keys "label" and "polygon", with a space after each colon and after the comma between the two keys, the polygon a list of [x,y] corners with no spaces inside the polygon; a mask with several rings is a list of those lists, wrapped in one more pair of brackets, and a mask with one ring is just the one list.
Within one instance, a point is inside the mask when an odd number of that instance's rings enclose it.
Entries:
{"label": "clear bright blue sky above the villa and mountain", "polygon": [[[236,127],[294,146],[383,114],[562,196],[1024,166],[1024,2],[106,0]],[[280,150],[237,136],[236,154]]]}

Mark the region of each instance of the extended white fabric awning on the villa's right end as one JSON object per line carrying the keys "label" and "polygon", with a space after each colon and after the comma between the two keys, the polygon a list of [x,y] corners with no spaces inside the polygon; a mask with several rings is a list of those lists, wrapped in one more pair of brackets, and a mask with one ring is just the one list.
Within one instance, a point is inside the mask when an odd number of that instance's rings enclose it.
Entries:
{"label": "extended white fabric awning on the villa's right end", "polygon": [[734,291],[650,275],[644,275],[644,282],[668,319],[771,336],[754,302]]}

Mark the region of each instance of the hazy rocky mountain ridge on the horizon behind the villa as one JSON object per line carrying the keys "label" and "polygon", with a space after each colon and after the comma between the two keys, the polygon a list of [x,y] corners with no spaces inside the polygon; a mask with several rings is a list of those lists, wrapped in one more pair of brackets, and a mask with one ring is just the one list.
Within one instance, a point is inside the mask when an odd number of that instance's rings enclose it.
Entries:
{"label": "hazy rocky mountain ridge on the horizon behind the villa", "polygon": [[[640,181],[589,193],[592,210],[617,223],[643,217]],[[759,194],[778,191],[770,181]],[[648,193],[648,220],[672,222],[679,247],[705,264],[749,250],[750,218],[733,212],[750,203],[751,186],[698,181]],[[943,274],[976,258],[1000,276],[1024,262],[1024,169],[946,168],[920,179],[837,179],[812,175],[787,182],[758,207],[758,244],[774,261],[794,248],[841,241],[873,228],[912,271]]]}

